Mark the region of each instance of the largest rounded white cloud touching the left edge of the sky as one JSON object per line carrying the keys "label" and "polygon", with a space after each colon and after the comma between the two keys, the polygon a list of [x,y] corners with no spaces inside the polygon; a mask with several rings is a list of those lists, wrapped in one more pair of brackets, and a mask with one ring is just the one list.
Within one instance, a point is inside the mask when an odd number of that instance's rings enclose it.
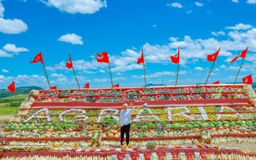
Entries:
{"label": "largest rounded white cloud touching the left edge of the sky", "polygon": [[19,34],[28,29],[26,23],[20,19],[3,19],[0,18],[0,32],[6,34]]}

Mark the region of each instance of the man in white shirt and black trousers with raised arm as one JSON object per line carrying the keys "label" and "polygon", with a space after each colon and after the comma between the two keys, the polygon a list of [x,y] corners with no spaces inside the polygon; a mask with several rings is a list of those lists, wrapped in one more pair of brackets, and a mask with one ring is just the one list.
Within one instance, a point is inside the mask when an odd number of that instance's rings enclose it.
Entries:
{"label": "man in white shirt and black trousers with raised arm", "polygon": [[132,111],[135,110],[132,102],[130,102],[130,106],[132,109],[128,109],[128,104],[123,104],[123,109],[120,113],[118,124],[121,125],[121,145],[123,145],[124,142],[124,133],[126,137],[126,145],[129,145],[129,138],[130,138],[130,129],[131,129],[131,115]]}

